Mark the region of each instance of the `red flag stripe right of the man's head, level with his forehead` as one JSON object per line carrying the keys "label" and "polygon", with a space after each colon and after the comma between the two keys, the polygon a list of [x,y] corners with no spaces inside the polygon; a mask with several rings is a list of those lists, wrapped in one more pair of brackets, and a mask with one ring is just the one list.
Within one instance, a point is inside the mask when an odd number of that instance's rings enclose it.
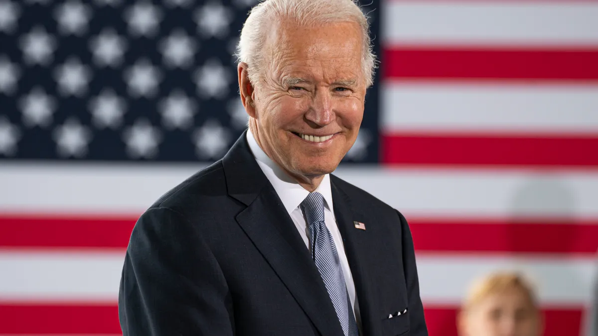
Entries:
{"label": "red flag stripe right of the man's head, level with his forehead", "polygon": [[598,48],[390,47],[382,54],[385,78],[598,80]]}

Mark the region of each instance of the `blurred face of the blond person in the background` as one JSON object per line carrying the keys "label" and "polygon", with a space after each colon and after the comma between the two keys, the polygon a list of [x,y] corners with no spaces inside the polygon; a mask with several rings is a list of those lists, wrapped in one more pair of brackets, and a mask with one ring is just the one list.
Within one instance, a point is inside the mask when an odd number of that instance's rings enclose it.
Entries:
{"label": "blurred face of the blond person in the background", "polygon": [[463,336],[539,336],[538,312],[520,289],[490,295],[466,313]]}

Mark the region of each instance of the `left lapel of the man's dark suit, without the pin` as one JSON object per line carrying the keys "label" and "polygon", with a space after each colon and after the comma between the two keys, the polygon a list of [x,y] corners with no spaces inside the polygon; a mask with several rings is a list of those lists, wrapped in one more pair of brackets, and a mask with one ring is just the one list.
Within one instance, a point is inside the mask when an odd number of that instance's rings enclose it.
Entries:
{"label": "left lapel of the man's dark suit, without the pin", "polygon": [[245,133],[222,161],[228,194],[247,207],[236,220],[320,334],[343,336],[324,282],[282,201],[258,166]]}

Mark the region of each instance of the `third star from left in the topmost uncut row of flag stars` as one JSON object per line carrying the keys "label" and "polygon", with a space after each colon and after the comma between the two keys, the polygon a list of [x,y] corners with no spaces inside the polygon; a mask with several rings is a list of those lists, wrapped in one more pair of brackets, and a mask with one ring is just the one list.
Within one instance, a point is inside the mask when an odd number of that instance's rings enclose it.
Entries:
{"label": "third star from left in the topmost uncut row of flag stars", "polygon": [[160,9],[147,1],[138,1],[124,11],[124,17],[129,23],[129,32],[133,36],[155,35],[162,16]]}

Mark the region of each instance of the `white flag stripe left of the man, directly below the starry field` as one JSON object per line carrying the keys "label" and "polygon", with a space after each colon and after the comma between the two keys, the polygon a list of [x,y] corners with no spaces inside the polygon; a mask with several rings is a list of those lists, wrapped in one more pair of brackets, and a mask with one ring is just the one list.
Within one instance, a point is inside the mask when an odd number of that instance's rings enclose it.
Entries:
{"label": "white flag stripe left of the man, directly below the starry field", "polygon": [[136,213],[205,166],[4,163],[0,211]]}

